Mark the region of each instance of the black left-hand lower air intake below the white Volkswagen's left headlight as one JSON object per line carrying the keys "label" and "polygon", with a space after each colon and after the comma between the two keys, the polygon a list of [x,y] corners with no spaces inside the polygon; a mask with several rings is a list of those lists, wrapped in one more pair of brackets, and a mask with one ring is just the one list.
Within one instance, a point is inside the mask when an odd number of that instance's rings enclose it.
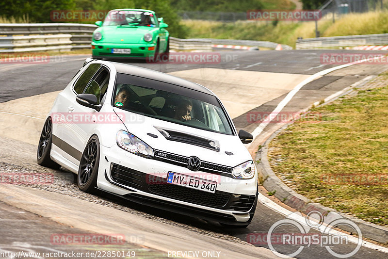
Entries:
{"label": "black left-hand lower air intake below the white Volkswagen's left headlight", "polygon": [[135,189],[144,187],[144,173],[112,163],[111,177],[113,181]]}

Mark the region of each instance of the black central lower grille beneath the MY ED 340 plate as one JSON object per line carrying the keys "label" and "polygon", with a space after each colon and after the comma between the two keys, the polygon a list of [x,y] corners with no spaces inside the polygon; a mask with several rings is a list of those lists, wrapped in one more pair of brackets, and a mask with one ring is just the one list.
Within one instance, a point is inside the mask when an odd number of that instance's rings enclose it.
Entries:
{"label": "black central lower grille beneath the MY ED 340 plate", "polygon": [[170,184],[166,182],[165,178],[160,177],[149,176],[147,182],[148,190],[151,193],[212,208],[224,207],[231,196],[231,194],[219,191],[212,194],[184,186]]}

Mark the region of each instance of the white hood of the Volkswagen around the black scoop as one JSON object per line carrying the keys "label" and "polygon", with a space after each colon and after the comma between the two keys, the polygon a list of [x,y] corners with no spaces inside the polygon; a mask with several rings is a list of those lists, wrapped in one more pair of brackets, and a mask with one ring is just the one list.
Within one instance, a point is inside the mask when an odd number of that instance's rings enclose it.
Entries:
{"label": "white hood of the Volkswagen around the black scoop", "polygon": [[[195,129],[136,113],[130,113],[118,108],[114,108],[114,111],[119,114],[120,117],[123,117],[124,124],[130,133],[146,142],[146,144],[153,149],[186,157],[196,156],[202,161],[233,167],[242,162],[252,160],[250,153],[237,135],[233,136],[203,129]],[[163,133],[161,133],[161,129],[187,134],[188,136],[194,136],[194,138],[200,137],[216,141],[218,142],[219,151],[203,146],[168,140],[163,136]],[[158,137],[155,138],[151,135],[156,135]],[[230,152],[233,155],[230,155],[230,153],[228,155],[226,152]]]}

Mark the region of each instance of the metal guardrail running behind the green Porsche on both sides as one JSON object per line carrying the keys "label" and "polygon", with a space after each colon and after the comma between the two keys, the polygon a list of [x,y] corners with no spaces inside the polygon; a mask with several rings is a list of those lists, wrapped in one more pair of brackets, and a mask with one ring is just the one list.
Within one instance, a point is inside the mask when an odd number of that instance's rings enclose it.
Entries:
{"label": "metal guardrail running behind the green Porsche on both sides", "polygon": [[[0,53],[89,49],[97,28],[81,23],[0,23]],[[269,41],[229,39],[179,39],[170,37],[170,49],[211,51],[211,45],[242,45],[275,49]],[[283,49],[292,49],[282,45]]]}

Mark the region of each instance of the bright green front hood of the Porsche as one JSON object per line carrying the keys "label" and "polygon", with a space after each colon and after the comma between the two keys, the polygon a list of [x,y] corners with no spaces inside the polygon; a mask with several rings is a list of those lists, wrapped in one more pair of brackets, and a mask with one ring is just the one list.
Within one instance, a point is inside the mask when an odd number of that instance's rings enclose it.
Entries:
{"label": "bright green front hood of the Porsche", "polygon": [[96,31],[101,32],[104,43],[146,43],[144,34],[157,30],[146,26],[102,26]]}

